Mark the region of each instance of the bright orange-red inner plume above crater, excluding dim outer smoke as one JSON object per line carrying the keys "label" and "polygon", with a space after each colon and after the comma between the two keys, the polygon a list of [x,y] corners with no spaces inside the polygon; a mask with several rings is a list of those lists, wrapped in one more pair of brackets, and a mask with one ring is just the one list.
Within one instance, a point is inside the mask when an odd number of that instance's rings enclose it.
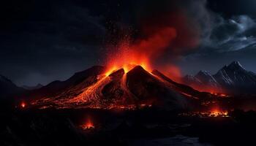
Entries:
{"label": "bright orange-red inner plume above crater, excluding dim outer smoke", "polygon": [[143,69],[151,72],[153,61],[164,53],[175,38],[176,29],[166,27],[160,28],[150,37],[140,39],[132,45],[124,40],[116,52],[108,54],[105,75],[108,76],[116,69],[124,69],[124,72],[127,73],[135,66],[142,66]]}

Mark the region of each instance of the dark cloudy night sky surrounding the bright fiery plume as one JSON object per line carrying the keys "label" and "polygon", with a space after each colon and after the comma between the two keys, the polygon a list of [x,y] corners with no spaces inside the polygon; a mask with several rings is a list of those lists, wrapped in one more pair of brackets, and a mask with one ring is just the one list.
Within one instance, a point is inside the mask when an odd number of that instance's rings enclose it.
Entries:
{"label": "dark cloudy night sky surrounding the bright fiery plume", "polygon": [[127,34],[136,41],[165,26],[178,37],[156,64],[214,74],[240,61],[256,72],[255,7],[255,0],[1,1],[0,74],[17,85],[66,80],[104,65]]}

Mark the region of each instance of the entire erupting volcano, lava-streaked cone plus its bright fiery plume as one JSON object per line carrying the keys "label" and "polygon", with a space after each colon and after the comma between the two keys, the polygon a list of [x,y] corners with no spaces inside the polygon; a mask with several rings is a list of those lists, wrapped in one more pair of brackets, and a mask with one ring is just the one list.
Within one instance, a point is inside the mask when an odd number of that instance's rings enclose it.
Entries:
{"label": "entire erupting volcano, lava-streaked cone plus its bright fiery plume", "polygon": [[[105,67],[94,66],[69,80],[52,82],[34,91],[29,96],[37,100],[31,104],[38,108],[134,109],[153,105],[187,110],[191,101],[208,96],[154,70],[155,61],[176,39],[176,28],[146,27],[143,33],[146,37],[133,42],[120,40],[119,45],[111,48]],[[164,70],[170,69],[167,64],[163,66]],[[178,69],[171,69],[168,74],[176,74]]]}

